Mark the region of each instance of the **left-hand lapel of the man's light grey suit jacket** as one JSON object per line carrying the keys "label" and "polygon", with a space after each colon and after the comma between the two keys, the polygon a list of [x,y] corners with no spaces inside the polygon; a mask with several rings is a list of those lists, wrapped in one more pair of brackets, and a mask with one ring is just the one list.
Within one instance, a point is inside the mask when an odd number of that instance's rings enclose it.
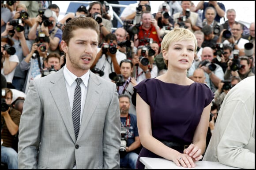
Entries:
{"label": "left-hand lapel of the man's light grey suit jacket", "polygon": [[63,68],[59,72],[56,72],[54,74],[56,74],[56,76],[54,76],[54,79],[50,81],[52,83],[52,86],[50,87],[50,92],[52,94],[53,100],[56,103],[56,107],[59,110],[60,116],[62,117],[63,122],[68,130],[68,133],[75,142],[72,112],[68,100],[68,93],[63,75]]}

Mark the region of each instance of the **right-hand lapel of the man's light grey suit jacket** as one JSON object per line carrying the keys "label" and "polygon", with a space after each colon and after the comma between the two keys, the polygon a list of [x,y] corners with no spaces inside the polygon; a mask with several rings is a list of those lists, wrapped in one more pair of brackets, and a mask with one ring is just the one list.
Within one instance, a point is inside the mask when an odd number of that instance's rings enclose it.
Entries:
{"label": "right-hand lapel of the man's light grey suit jacket", "polygon": [[89,120],[93,115],[94,110],[98,105],[98,102],[100,101],[100,95],[101,95],[101,90],[99,87],[100,83],[101,82],[98,80],[98,77],[94,73],[90,72],[88,88],[87,88],[87,96],[84,103],[83,116],[81,119],[81,126],[80,126],[77,140],[79,140],[80,136],[87,129]]}

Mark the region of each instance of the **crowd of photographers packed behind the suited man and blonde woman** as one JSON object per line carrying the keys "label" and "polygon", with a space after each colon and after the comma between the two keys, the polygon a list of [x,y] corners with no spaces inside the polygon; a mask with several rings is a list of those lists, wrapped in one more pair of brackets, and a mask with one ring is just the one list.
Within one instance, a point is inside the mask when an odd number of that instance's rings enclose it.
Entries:
{"label": "crowd of photographers packed behind the suited man and blonde woman", "polygon": [[[6,79],[6,86],[2,83],[2,89],[7,87],[4,93],[2,90],[2,98],[6,100],[2,103],[8,104],[8,89],[26,94],[30,80],[47,76],[65,65],[60,41],[62,29],[70,19],[80,16],[94,18],[100,28],[100,40],[98,54],[90,70],[116,83],[117,92],[121,95],[120,101],[123,102],[122,105],[120,103],[120,112],[124,113],[121,120],[132,114],[133,123],[132,129],[129,129],[123,121],[123,131],[132,134],[124,136],[132,139],[127,145],[125,143],[122,151],[136,150],[135,156],[138,156],[140,143],[135,131],[136,108],[131,104],[133,87],[166,70],[159,49],[162,38],[175,26],[195,33],[198,49],[187,76],[196,82],[206,83],[211,88],[215,93],[213,103],[217,105],[217,110],[236,83],[254,75],[254,21],[247,28],[235,20],[234,9],[226,10],[225,5],[217,1],[200,1],[197,6],[192,1],[164,1],[159,5],[157,13],[151,12],[150,1],[139,1],[124,8],[120,14],[124,23],[120,28],[113,28],[117,24],[113,19],[113,8],[107,1],[82,5],[75,13],[66,14],[64,18],[58,18],[60,8],[56,4],[51,4],[51,1],[41,2],[1,1],[1,72],[2,79]],[[220,18],[225,17],[225,12],[227,20],[220,24]],[[1,120],[6,119],[6,112],[11,115],[12,109],[11,103],[2,105]],[[126,109],[125,112],[122,109]],[[17,127],[17,117],[20,115],[15,115],[11,121]],[[211,122],[212,129],[214,127]],[[9,130],[8,140],[10,137],[15,138],[17,131],[14,133],[9,128],[5,130]],[[134,142],[136,147],[130,147],[135,146]],[[9,144],[5,145],[5,141],[3,146],[11,148]],[[134,155],[132,158],[127,154],[122,156],[120,165],[135,167]],[[13,157],[15,156],[12,155]],[[133,162],[130,163],[129,159]],[[10,169],[11,166],[17,167],[9,162],[10,160],[5,160]]]}

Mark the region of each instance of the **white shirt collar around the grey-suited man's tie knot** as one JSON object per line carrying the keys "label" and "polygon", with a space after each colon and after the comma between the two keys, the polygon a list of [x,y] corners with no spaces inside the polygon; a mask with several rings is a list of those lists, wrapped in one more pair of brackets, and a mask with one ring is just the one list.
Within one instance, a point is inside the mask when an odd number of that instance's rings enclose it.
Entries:
{"label": "white shirt collar around the grey-suited man's tie knot", "polygon": [[[77,78],[77,76],[75,76],[72,72],[70,72],[66,65],[64,65],[63,73],[64,73],[64,78],[67,81],[68,85],[71,86],[72,83],[75,82],[75,79]],[[80,77],[83,80],[85,87],[88,87],[89,76],[90,76],[90,71],[88,70],[87,73],[85,73],[83,76]]]}

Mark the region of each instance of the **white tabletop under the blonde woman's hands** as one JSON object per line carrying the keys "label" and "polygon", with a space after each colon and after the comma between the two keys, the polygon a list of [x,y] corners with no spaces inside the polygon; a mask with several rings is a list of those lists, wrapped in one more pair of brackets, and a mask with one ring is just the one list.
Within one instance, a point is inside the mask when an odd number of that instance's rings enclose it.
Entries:
{"label": "white tabletop under the blonde woman's hands", "polygon": [[[139,159],[145,165],[145,169],[186,169],[183,166],[177,166],[173,161],[163,158],[146,158]],[[240,169],[232,166],[226,166],[218,162],[197,161],[196,167],[191,169]]]}

